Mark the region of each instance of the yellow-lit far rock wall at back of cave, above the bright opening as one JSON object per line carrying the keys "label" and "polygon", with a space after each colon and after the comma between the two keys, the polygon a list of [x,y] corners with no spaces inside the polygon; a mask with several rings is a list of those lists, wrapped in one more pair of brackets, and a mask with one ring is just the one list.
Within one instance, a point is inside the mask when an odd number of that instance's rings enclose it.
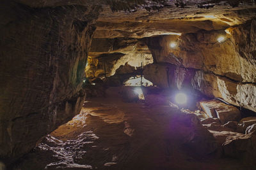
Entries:
{"label": "yellow-lit far rock wall at back of cave, above the bright opening", "polygon": [[[104,63],[105,62],[105,63]],[[136,38],[93,38],[86,66],[86,77],[113,76],[118,68],[127,63],[132,67],[152,64],[148,46]]]}

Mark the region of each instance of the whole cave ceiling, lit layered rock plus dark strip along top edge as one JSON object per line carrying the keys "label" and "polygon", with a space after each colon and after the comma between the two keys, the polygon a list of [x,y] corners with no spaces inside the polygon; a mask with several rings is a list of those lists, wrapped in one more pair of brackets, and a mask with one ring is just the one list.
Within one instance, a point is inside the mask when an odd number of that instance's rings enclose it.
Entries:
{"label": "whole cave ceiling, lit layered rock plus dark strip along top edge", "polygon": [[227,29],[255,17],[254,1],[15,0],[33,8],[102,6],[94,38],[144,38]]}

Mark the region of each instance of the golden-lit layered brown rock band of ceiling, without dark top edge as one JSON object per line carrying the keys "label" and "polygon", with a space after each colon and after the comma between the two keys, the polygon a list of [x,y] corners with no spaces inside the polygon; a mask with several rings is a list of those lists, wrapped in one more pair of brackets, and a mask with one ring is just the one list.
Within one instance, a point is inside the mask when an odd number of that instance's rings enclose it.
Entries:
{"label": "golden-lit layered brown rock band of ceiling, without dark top edge", "polygon": [[137,10],[128,14],[123,11],[113,13],[108,6],[104,6],[102,15],[97,20],[95,38],[143,38],[225,29],[230,25],[243,24],[255,15],[255,6],[227,8],[220,4],[205,10],[195,5],[204,1],[187,1],[186,8],[176,8],[174,3],[168,2],[167,7],[158,11]]}

